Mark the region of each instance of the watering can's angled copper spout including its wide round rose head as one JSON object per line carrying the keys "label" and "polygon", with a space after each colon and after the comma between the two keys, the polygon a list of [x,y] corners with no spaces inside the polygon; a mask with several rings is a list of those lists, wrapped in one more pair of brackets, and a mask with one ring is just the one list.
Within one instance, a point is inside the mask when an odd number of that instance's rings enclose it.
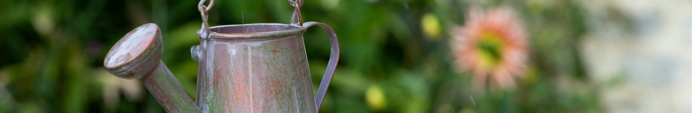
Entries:
{"label": "watering can's angled copper spout including its wide round rose head", "polygon": [[104,68],[122,79],[139,79],[166,112],[201,112],[165,64],[161,31],[147,23],[125,34],[108,52]]}

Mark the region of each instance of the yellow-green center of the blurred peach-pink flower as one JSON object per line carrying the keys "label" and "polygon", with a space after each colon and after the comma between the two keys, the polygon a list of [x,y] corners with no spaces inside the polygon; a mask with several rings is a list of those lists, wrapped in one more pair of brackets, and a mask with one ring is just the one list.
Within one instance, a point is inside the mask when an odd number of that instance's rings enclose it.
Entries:
{"label": "yellow-green center of the blurred peach-pink flower", "polygon": [[495,32],[484,32],[476,45],[479,52],[479,65],[491,69],[502,60],[502,39]]}

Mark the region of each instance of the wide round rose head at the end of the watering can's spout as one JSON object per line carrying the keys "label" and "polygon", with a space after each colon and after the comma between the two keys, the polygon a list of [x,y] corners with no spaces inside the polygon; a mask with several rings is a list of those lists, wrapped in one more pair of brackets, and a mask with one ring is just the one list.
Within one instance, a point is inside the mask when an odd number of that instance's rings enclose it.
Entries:
{"label": "wide round rose head at the end of the watering can's spout", "polygon": [[162,46],[158,25],[141,25],[113,45],[103,61],[103,66],[120,78],[138,79],[156,68],[161,61]]}

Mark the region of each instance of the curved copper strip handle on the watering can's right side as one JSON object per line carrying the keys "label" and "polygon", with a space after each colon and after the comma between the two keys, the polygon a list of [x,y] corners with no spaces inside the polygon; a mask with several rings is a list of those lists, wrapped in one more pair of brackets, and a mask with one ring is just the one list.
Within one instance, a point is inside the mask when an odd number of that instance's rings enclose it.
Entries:
{"label": "curved copper strip handle on the watering can's right side", "polygon": [[331,55],[329,55],[329,63],[327,64],[327,70],[325,70],[325,75],[322,76],[322,82],[320,82],[320,88],[317,90],[317,95],[315,95],[315,105],[317,105],[317,111],[320,111],[322,107],[322,101],[325,101],[325,94],[327,94],[327,88],[329,88],[329,83],[331,83],[331,77],[334,76],[334,71],[336,70],[336,63],[339,61],[339,39],[336,37],[334,30],[325,23],[318,23],[314,21],[303,23],[303,28],[307,29],[313,25],[320,25],[322,29],[325,29],[327,35],[329,35],[329,43],[331,43]]}

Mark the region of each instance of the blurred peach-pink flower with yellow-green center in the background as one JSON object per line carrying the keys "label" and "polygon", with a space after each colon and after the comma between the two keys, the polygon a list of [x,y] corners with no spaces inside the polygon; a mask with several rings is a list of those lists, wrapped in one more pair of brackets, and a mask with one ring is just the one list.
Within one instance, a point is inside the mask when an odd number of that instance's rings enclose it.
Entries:
{"label": "blurred peach-pink flower with yellow-green center in the background", "polygon": [[509,8],[471,10],[466,26],[451,30],[455,63],[474,75],[475,90],[488,79],[491,86],[513,87],[514,76],[522,75],[528,53],[521,22]]}

